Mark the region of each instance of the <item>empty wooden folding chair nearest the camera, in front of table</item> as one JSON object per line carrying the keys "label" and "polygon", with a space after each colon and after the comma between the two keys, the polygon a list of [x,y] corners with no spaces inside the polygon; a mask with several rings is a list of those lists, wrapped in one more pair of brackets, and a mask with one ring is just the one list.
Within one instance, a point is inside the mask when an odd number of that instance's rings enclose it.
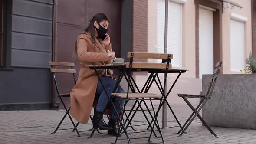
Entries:
{"label": "empty wooden folding chair nearest the camera, in front of table", "polygon": [[[130,62],[127,62],[127,65],[126,65],[126,68],[128,69],[128,72],[126,74],[128,75],[128,85],[129,85],[127,93],[112,93],[112,96],[117,96],[119,98],[125,99],[125,105],[124,105],[124,107],[122,109],[122,115],[124,115],[124,113],[125,113],[125,107],[126,107],[126,104],[128,103],[128,101],[135,100],[135,103],[136,102],[138,103],[138,107],[141,109],[144,117],[146,118],[146,120],[147,120],[147,122],[149,124],[149,127],[151,128],[150,136],[149,137],[139,137],[140,139],[141,138],[148,138],[148,142],[150,143],[151,142],[150,141],[151,135],[154,132],[154,126],[156,126],[156,128],[157,128],[157,130],[158,130],[158,132],[159,132],[159,134],[161,136],[161,140],[162,140],[161,143],[164,143],[164,138],[163,138],[163,135],[162,135],[159,123],[158,123],[158,118],[157,118],[158,117],[158,112],[157,113],[155,112],[154,106],[153,106],[153,103],[152,103],[152,100],[159,100],[160,104],[161,104],[161,101],[163,100],[164,95],[157,95],[157,94],[153,94],[153,93],[129,93],[129,88],[132,87],[132,86],[130,86],[130,85],[132,85],[132,83],[131,83],[131,72],[132,72],[132,69],[144,69],[145,71],[148,71],[148,70],[150,71],[152,69],[165,69],[165,71],[167,73],[168,70],[171,68],[171,64],[170,64],[170,62],[171,62],[171,54],[154,54],[154,53],[142,53],[142,52],[128,52],[128,56],[127,57],[130,58]],[[163,57],[164,57],[164,59],[167,59],[167,63],[166,64],[165,63],[133,62],[134,58],[163,59]],[[164,82],[164,84],[166,84],[166,83]],[[165,85],[164,85],[164,88],[165,88]],[[132,90],[132,88],[131,88],[131,90]],[[134,90],[132,90],[132,91],[134,91]],[[150,112],[151,110],[148,108],[148,105],[145,102],[146,100],[149,100],[151,102],[152,111],[153,111],[154,115],[151,114],[151,112]],[[142,106],[141,106],[142,102],[145,105],[146,110],[144,110],[142,108]],[[119,108],[121,108],[121,105],[120,105]],[[159,107],[158,107],[158,109],[159,109]],[[150,114],[151,119],[153,120],[153,126],[151,125],[151,122],[147,118],[147,115],[145,114],[145,111],[148,111],[148,113]],[[128,121],[129,121],[129,123],[128,123],[128,125],[129,125],[131,120],[128,120]],[[124,117],[121,118],[120,122],[125,124]],[[135,127],[135,126],[139,126],[139,125],[132,125],[132,126]],[[120,132],[120,128],[121,127],[118,128],[118,132]],[[123,129],[126,131],[125,126],[123,127]],[[141,131],[141,132],[144,132],[144,131]],[[132,132],[132,133],[135,133],[135,132]],[[129,138],[128,137],[128,143],[131,142],[130,139],[136,139],[136,138]],[[117,142],[117,140],[118,140],[118,137],[116,137],[115,143]]]}

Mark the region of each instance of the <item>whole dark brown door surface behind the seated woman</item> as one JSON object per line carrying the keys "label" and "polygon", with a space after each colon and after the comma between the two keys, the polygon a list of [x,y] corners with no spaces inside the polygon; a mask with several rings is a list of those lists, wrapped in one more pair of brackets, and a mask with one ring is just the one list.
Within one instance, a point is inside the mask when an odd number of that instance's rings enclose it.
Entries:
{"label": "whole dark brown door surface behind the seated woman", "polygon": [[[75,62],[79,72],[79,60],[76,57],[75,42],[79,33],[89,24],[96,13],[105,13],[111,20],[108,33],[112,49],[120,56],[121,49],[121,0],[57,0],[56,61]],[[78,74],[77,74],[78,76]],[[60,92],[71,92],[74,81],[72,75],[59,75]],[[69,105],[69,98],[65,99]],[[62,105],[60,105],[62,108]]]}

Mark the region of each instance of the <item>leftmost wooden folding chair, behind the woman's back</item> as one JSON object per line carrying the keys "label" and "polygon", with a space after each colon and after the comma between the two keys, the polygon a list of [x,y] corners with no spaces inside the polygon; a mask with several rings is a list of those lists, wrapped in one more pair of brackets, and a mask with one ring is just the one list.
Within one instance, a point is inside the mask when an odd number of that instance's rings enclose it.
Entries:
{"label": "leftmost wooden folding chair, behind the woman's back", "polygon": [[[73,75],[73,79],[74,79],[74,83],[76,84],[76,78],[75,78],[75,73],[76,73],[76,70],[73,69],[75,64],[74,63],[70,63],[70,62],[49,62],[49,65],[51,66],[51,73],[53,74],[53,79],[54,79],[54,82],[55,82],[55,87],[56,87],[56,91],[58,93],[58,97],[62,103],[62,105],[64,106],[65,110],[66,110],[66,114],[63,116],[62,120],[59,122],[59,125],[57,126],[57,128],[55,129],[55,131],[52,133],[52,134],[55,134],[56,131],[58,131],[59,129],[59,126],[62,124],[63,120],[66,118],[66,116],[68,115],[69,116],[69,119],[70,121],[72,122],[73,124],[73,131],[76,131],[78,137],[80,136],[79,134],[79,131],[77,130],[76,126],[75,126],[75,123],[74,121],[72,120],[71,118],[71,115],[69,114],[69,111],[70,111],[70,107],[67,108],[64,101],[62,100],[63,97],[70,97],[70,94],[69,93],[65,93],[65,94],[62,94],[59,92],[59,86],[58,86],[58,82],[56,80],[56,73],[66,73],[66,74],[72,74]],[[58,69],[58,68],[55,68],[55,66],[61,66],[61,67],[68,67],[68,69]],[[60,130],[60,129],[59,129]]]}

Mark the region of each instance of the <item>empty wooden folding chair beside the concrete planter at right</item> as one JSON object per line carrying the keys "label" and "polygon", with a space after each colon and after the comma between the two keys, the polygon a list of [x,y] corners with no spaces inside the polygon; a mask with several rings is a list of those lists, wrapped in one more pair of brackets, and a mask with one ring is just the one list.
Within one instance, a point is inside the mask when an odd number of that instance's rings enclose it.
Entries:
{"label": "empty wooden folding chair beside the concrete planter at right", "polygon": [[[185,122],[185,124],[182,126],[182,129],[180,129],[180,131],[177,132],[177,134],[179,134],[181,131],[181,134],[178,137],[181,137],[182,134],[184,134],[184,132],[187,130],[187,128],[189,127],[189,125],[191,124],[191,122],[194,120],[194,118],[197,116],[202,123],[206,126],[206,128],[210,131],[211,134],[213,134],[215,137],[217,137],[217,135],[213,132],[213,130],[210,128],[210,126],[204,121],[204,119],[199,115],[199,112],[202,110],[203,106],[206,104],[206,102],[211,98],[211,95],[213,93],[213,89],[217,80],[217,76],[219,74],[220,71],[220,67],[221,67],[222,61],[218,62],[215,65],[215,69],[213,71],[213,78],[211,79],[208,91],[206,93],[206,95],[188,95],[188,94],[177,94],[179,97],[183,98],[184,101],[187,103],[187,105],[192,109],[193,113],[190,115],[190,117],[187,119],[187,121]],[[191,103],[187,100],[187,98],[200,98],[201,101],[200,103],[197,105],[197,108],[194,108]]]}

